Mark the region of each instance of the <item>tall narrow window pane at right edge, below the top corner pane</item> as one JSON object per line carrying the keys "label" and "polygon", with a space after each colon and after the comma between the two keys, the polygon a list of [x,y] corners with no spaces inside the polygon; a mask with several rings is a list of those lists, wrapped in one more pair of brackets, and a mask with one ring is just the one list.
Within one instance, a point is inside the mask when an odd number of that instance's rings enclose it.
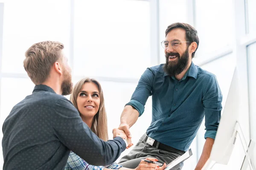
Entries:
{"label": "tall narrow window pane at right edge, below the top corner pane", "polygon": [[[247,47],[249,78],[250,137],[256,139],[256,43]],[[256,156],[255,156],[256,158]]]}

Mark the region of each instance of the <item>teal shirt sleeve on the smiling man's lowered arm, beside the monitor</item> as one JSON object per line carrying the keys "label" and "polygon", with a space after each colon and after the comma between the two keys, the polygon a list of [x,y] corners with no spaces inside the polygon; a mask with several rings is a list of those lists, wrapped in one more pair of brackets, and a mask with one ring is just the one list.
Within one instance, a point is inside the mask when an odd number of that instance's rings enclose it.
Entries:
{"label": "teal shirt sleeve on the smiling man's lowered arm, beside the monitor", "polygon": [[203,96],[206,130],[204,138],[215,139],[221,119],[222,94],[215,75],[210,75],[206,82]]}

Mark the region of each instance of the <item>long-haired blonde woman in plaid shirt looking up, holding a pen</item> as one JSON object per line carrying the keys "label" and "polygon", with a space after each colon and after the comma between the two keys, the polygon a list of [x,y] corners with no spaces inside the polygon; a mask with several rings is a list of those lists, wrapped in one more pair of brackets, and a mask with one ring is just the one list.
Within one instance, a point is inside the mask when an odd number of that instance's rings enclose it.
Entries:
{"label": "long-haired blonde woman in plaid shirt looking up, holding a pen", "polygon": [[[97,135],[100,139],[108,140],[108,126],[107,126],[107,114],[104,104],[104,96],[102,92],[101,85],[95,79],[84,78],[81,79],[73,88],[73,92],[70,96],[70,101],[78,109],[81,119],[85,122],[88,127]],[[118,129],[114,129],[118,131]],[[123,133],[119,130],[119,133]],[[154,158],[147,158],[151,161],[157,161]],[[162,167],[156,164],[146,163],[141,161],[139,166],[135,168],[136,170],[150,170],[150,168],[165,169],[166,164]],[[131,170],[122,167],[116,163],[110,164],[106,167],[104,166],[93,166],[88,164],[86,161],[81,159],[78,155],[70,152],[70,156],[67,160],[65,170],[110,170],[110,169],[120,169],[120,170]]]}

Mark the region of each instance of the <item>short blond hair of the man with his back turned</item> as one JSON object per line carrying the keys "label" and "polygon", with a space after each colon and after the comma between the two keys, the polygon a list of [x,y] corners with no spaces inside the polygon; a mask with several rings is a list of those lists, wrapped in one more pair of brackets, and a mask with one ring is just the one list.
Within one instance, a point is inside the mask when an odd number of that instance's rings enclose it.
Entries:
{"label": "short blond hair of the man with his back turned", "polygon": [[32,45],[25,53],[23,66],[35,85],[42,84],[49,77],[52,65],[62,62],[64,45],[55,41],[43,41]]}

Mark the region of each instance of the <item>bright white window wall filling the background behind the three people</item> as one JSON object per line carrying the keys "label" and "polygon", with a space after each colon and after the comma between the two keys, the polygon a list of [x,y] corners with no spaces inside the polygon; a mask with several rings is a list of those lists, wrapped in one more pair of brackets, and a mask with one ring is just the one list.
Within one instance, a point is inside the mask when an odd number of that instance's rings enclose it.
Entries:
{"label": "bright white window wall filling the background behind the three people", "polygon": [[[64,43],[74,83],[83,77],[96,78],[101,83],[109,138],[112,139],[112,129],[119,126],[123,107],[130,100],[140,76],[147,67],[166,62],[160,42],[165,38],[167,26],[180,22],[189,23],[197,29],[200,44],[193,62],[216,75],[223,94],[223,108],[235,65],[239,66],[239,75],[244,83],[241,89],[244,90],[241,125],[246,127],[245,135],[249,139],[247,126],[250,122],[250,137],[256,139],[256,109],[253,108],[256,103],[256,0],[0,2],[5,3],[4,20],[0,24],[3,28],[3,40],[0,40],[3,41],[3,47],[0,47],[3,49],[0,54],[0,127],[12,107],[31,94],[34,87],[23,68],[25,51],[36,42],[53,40]],[[240,40],[243,44],[239,44]],[[150,123],[151,97],[146,103],[145,113],[131,127],[134,144]],[[193,156],[185,161],[183,170],[195,168],[205,142],[204,128],[203,122],[191,145]],[[240,157],[244,153],[239,149],[241,144],[235,146],[236,154],[230,159],[234,166],[242,161]],[[122,156],[129,151],[125,150]],[[0,167],[3,165],[2,157],[0,153]]]}

